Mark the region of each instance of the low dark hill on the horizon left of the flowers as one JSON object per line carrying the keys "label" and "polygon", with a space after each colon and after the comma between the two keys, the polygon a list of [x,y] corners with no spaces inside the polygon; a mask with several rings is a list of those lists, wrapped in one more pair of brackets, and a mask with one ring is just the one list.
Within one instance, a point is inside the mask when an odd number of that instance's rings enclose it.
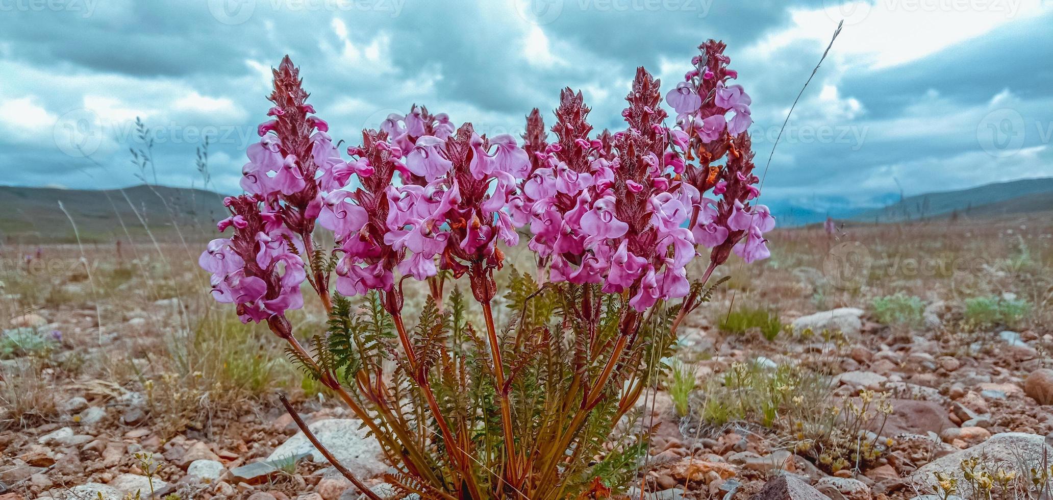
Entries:
{"label": "low dark hill on the horizon left of the flowers", "polygon": [[60,201],[82,241],[114,241],[127,235],[145,240],[147,227],[159,240],[171,241],[177,238],[177,226],[186,238],[203,239],[215,235],[215,223],[227,216],[223,198],[210,191],[148,185],[107,191],[0,186],[0,241],[75,241]]}

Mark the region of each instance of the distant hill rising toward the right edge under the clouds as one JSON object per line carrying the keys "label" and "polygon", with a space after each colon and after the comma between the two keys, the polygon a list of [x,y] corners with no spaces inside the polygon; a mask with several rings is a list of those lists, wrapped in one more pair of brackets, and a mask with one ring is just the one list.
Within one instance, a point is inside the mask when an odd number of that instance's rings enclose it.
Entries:
{"label": "distant hill rising toward the right edge under the clouds", "polygon": [[883,208],[851,217],[860,222],[902,222],[949,217],[990,217],[1053,209],[1053,178],[985,184],[968,189],[928,193],[903,198]]}

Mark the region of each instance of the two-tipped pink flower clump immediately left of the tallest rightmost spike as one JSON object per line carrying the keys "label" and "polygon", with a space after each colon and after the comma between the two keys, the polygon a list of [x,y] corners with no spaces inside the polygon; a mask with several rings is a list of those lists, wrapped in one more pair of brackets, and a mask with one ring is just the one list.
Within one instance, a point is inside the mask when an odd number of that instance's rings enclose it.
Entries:
{"label": "two-tipped pink flower clump immediately left of the tallest rightmost spike", "polygon": [[552,127],[558,142],[535,153],[539,164],[512,204],[552,281],[630,291],[637,311],[686,297],[684,266],[695,256],[684,225],[699,197],[678,180],[683,159],[669,147],[671,140],[687,147],[687,135],[662,125],[658,83],[639,68],[622,112],[629,126],[597,137],[581,94],[564,89]]}

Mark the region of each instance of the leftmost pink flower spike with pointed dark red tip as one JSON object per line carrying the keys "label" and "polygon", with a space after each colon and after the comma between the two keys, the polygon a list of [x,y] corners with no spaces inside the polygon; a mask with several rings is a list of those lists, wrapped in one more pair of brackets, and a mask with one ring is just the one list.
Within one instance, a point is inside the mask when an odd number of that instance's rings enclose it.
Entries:
{"label": "leftmost pink flower spike with pointed dark red tip", "polygon": [[299,69],[286,56],[274,69],[269,99],[273,119],[261,123],[259,143],[249,147],[241,186],[246,195],[224,203],[231,217],[219,231],[234,227],[232,238],[210,242],[199,263],[213,273],[213,295],[238,304],[244,322],[282,317],[303,305],[300,284],[306,279],[318,291],[329,286],[319,273],[309,277],[304,256],[322,208],[322,192],[351,176],[326,131],[305,102]]}

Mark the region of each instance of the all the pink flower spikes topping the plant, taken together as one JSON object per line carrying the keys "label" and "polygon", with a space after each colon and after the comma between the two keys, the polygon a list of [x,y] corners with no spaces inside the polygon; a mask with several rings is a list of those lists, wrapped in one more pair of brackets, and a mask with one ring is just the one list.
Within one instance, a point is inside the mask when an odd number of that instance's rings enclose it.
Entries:
{"label": "all the pink flower spikes topping the plant, taken together", "polygon": [[[286,57],[274,71],[273,119],[249,149],[247,194],[227,199],[232,217],[219,225],[235,235],[201,256],[214,294],[239,304],[244,321],[300,307],[304,280],[327,299],[325,266],[304,263],[315,258],[317,221],[337,242],[337,292],[380,291],[392,311],[401,307],[402,279],[431,281],[440,269],[468,274],[489,302],[503,261],[497,243],[518,244],[524,225],[553,282],[601,284],[640,312],[687,297],[697,244],[712,248],[711,271],[731,252],[753,261],[768,256],[762,235],[774,226],[767,207],[751,206],[759,192],[744,132],[750,98],[727,84],[736,75],[723,47],[701,45],[696,68],[667,94],[677,128],[663,125],[659,82],[641,67],[622,112],[627,127],[615,134],[593,134],[581,93],[567,88],[555,142],[537,109],[520,146],[414,105],[364,131],[350,161],[304,102]],[[711,189],[715,198],[703,197]]]}

